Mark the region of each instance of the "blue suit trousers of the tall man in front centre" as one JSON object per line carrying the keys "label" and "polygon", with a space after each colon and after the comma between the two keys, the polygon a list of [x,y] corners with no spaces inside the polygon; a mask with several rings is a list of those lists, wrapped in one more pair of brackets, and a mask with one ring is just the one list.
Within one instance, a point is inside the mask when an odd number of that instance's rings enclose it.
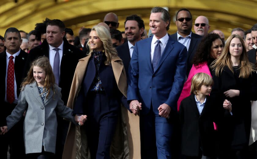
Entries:
{"label": "blue suit trousers of the tall man in front centre", "polygon": [[174,125],[151,110],[140,115],[140,138],[142,159],[175,159],[172,153]]}

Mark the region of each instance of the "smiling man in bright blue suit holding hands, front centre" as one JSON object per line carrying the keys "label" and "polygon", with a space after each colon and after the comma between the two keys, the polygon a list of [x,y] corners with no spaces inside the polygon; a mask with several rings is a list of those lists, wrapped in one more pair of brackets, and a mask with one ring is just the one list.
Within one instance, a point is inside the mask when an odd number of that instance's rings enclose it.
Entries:
{"label": "smiling man in bright blue suit holding hands, front centre", "polygon": [[154,36],[135,44],[128,68],[128,102],[135,115],[140,113],[142,159],[176,158],[176,103],[186,77],[187,48],[169,37],[169,24],[168,11],[152,8]]}

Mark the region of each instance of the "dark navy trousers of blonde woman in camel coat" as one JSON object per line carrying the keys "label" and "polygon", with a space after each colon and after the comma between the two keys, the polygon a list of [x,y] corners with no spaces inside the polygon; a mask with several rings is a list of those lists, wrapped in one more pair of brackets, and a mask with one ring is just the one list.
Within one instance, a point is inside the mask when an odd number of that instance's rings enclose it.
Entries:
{"label": "dark navy trousers of blonde woman in camel coat", "polygon": [[85,107],[88,115],[85,131],[91,159],[110,159],[110,146],[118,120],[118,102],[106,94],[89,93]]}

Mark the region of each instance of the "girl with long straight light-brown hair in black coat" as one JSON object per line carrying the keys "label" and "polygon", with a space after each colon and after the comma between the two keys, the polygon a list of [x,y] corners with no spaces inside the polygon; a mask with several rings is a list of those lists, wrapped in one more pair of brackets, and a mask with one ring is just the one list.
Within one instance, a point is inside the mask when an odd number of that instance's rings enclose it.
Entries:
{"label": "girl with long straight light-brown hair in black coat", "polygon": [[[251,128],[251,100],[257,100],[257,74],[254,65],[248,60],[240,36],[231,35],[227,39],[220,58],[211,64],[211,69],[214,69],[214,85],[210,97],[219,110],[221,157],[251,158],[247,157],[247,148]],[[228,100],[227,103],[224,100]],[[227,106],[230,102],[233,104],[232,110]]]}

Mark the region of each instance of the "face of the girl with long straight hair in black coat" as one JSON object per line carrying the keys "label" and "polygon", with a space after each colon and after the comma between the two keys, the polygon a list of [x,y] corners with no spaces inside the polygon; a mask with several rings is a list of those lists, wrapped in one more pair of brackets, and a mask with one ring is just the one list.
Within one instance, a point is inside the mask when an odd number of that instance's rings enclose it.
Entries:
{"label": "face of the girl with long straight hair in black coat", "polygon": [[231,40],[229,45],[229,52],[231,56],[240,58],[240,55],[243,52],[243,44],[241,43],[240,39],[234,37]]}

